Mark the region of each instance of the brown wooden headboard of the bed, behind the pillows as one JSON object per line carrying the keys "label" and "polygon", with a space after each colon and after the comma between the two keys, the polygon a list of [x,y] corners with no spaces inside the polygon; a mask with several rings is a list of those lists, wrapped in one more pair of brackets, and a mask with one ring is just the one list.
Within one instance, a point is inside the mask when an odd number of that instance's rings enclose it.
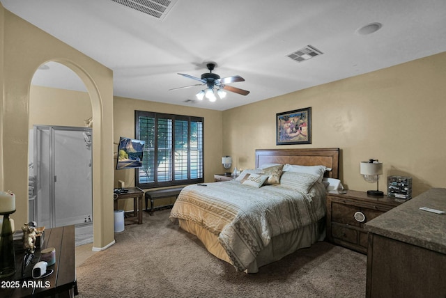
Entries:
{"label": "brown wooden headboard of the bed, behind the pillows", "polygon": [[330,178],[339,178],[339,148],[256,149],[256,168],[262,164],[299,164],[327,166]]}

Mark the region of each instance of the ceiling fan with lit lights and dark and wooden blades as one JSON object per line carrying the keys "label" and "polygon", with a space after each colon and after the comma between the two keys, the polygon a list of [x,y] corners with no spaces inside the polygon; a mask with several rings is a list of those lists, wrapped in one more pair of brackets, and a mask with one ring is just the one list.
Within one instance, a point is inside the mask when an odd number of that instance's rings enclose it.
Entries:
{"label": "ceiling fan with lit lights and dark and wooden blades", "polygon": [[203,100],[203,97],[206,97],[210,102],[215,102],[215,100],[217,100],[217,97],[215,96],[214,91],[217,93],[217,95],[220,98],[224,98],[226,96],[226,91],[238,93],[240,95],[248,95],[249,94],[249,91],[226,85],[226,84],[236,83],[238,81],[245,81],[245,79],[243,79],[243,77],[240,77],[239,75],[235,75],[232,77],[220,78],[219,75],[212,72],[216,66],[217,66],[216,63],[213,63],[213,62],[207,63],[206,67],[208,68],[209,73],[203,73],[203,75],[201,75],[201,78],[179,73],[178,75],[182,75],[183,77],[188,77],[188,78],[194,79],[196,81],[201,81],[202,84],[195,84],[195,85],[190,85],[190,86],[173,88],[173,89],[169,89],[169,91],[176,90],[176,89],[190,88],[190,87],[194,87],[194,86],[206,85],[206,88],[199,91],[199,93],[197,93],[195,96],[197,96],[197,98],[199,100]]}

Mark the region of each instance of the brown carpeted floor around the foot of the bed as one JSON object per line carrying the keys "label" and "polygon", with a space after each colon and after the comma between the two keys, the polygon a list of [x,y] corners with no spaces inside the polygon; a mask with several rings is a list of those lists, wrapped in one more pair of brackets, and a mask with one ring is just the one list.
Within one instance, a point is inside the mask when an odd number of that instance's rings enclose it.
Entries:
{"label": "brown carpeted floor around the foot of the bed", "polygon": [[245,274],[171,224],[169,212],[144,212],[144,224],[125,226],[77,267],[77,297],[365,297],[367,256],[318,242]]}

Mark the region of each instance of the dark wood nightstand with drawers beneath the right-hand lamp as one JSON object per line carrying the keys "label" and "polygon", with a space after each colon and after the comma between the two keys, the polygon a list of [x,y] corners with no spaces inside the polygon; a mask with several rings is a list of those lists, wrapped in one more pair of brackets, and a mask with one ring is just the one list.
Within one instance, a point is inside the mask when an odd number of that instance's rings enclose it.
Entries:
{"label": "dark wood nightstand with drawers beneath the right-hand lamp", "polygon": [[348,249],[367,253],[364,224],[401,202],[387,196],[368,196],[366,191],[327,194],[327,239]]}

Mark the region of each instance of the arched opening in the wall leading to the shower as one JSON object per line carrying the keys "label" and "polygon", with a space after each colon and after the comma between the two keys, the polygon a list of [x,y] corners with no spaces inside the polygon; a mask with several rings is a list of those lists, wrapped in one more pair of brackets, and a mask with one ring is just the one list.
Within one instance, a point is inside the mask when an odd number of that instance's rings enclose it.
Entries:
{"label": "arched opening in the wall leading to the shower", "polygon": [[29,220],[75,226],[76,245],[93,242],[91,100],[70,68],[49,61],[29,94]]}

